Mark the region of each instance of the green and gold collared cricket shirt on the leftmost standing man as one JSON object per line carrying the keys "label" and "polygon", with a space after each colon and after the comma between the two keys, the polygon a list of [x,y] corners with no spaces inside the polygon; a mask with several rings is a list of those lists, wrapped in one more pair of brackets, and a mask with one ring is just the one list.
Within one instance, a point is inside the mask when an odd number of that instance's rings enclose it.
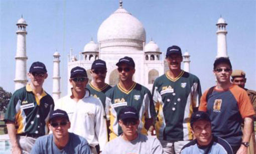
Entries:
{"label": "green and gold collared cricket shirt on the leftmost standing man", "polygon": [[15,122],[17,134],[45,135],[48,133],[47,123],[53,108],[54,101],[48,93],[43,90],[41,96],[36,96],[30,84],[27,84],[12,95],[5,121]]}

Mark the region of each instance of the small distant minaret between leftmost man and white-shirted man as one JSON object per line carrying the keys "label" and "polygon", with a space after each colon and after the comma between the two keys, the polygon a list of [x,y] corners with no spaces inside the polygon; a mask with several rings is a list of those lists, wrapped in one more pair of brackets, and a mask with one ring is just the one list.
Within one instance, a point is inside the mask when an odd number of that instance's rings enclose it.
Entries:
{"label": "small distant minaret between leftmost man and white-shirted man", "polygon": [[60,53],[55,52],[53,54],[53,87],[52,87],[52,97],[54,102],[60,98]]}

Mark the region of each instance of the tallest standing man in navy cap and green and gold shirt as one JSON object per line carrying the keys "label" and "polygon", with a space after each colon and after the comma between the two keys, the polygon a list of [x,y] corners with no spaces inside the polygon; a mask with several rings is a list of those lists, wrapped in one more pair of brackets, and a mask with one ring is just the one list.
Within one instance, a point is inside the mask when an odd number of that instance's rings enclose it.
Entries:
{"label": "tallest standing man in navy cap and green and gold shirt", "polygon": [[165,153],[179,153],[193,139],[189,121],[201,97],[199,78],[181,69],[181,48],[167,48],[169,70],[153,84],[153,100],[158,111],[157,136]]}

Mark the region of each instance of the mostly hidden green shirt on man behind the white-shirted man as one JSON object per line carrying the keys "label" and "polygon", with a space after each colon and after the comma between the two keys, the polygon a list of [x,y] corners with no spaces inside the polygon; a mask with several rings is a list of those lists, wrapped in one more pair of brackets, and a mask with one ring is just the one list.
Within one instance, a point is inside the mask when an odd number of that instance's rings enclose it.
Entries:
{"label": "mostly hidden green shirt on man behind the white-shirted man", "polygon": [[103,107],[105,108],[105,101],[106,101],[106,91],[109,90],[110,88],[112,88],[112,86],[108,85],[107,83],[105,83],[105,85],[102,88],[96,88],[95,86],[93,86],[91,83],[86,85],[86,88],[89,89],[90,91],[90,95],[94,96],[95,98],[99,98]]}

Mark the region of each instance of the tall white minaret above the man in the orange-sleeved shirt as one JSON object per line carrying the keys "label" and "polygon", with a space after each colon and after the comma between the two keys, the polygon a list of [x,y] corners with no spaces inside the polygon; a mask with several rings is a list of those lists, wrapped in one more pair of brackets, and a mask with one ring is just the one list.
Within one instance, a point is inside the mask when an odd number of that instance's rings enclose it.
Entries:
{"label": "tall white minaret above the man in the orange-sleeved shirt", "polygon": [[227,43],[226,43],[226,25],[225,20],[220,16],[217,22],[217,56],[218,57],[228,57],[227,55]]}

